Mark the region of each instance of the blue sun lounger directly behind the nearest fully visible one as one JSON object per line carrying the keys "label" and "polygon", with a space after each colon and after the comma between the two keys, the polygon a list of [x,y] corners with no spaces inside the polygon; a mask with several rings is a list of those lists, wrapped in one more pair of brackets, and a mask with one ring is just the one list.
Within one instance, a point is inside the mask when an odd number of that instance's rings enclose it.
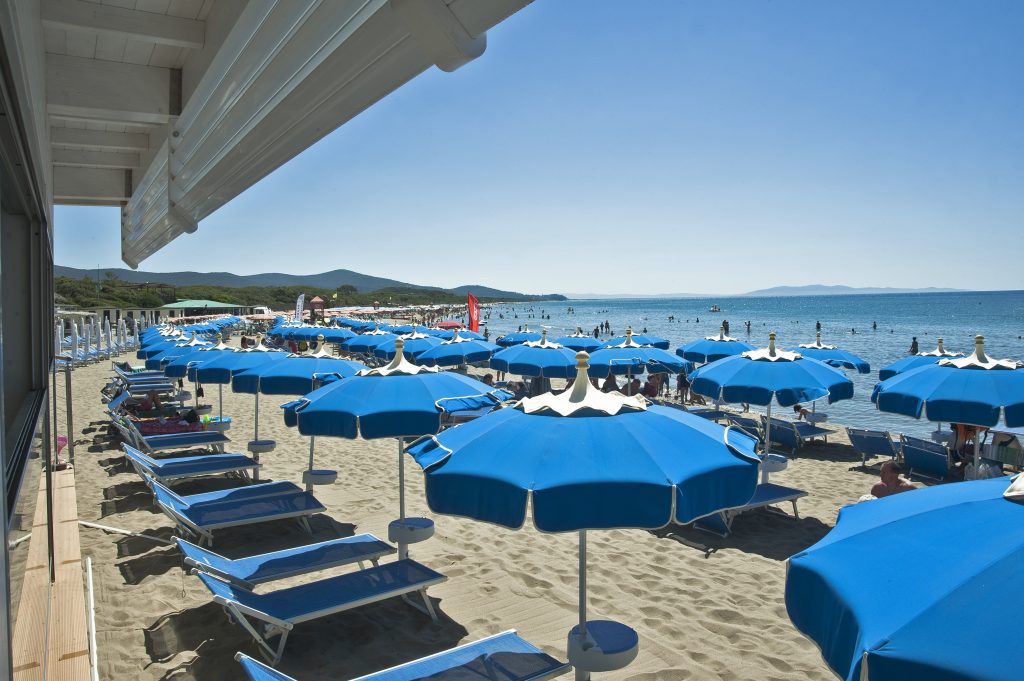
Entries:
{"label": "blue sun lounger directly behind the nearest fully visible one", "polygon": [[379,564],[379,558],[392,554],[395,548],[373,535],[355,535],[332,539],[316,544],[306,544],[293,549],[261,553],[245,558],[224,558],[212,551],[196,546],[183,539],[175,539],[185,556],[185,562],[201,572],[212,574],[252,591],[256,585],[306,574],[322,569],[350,563],[370,561]]}

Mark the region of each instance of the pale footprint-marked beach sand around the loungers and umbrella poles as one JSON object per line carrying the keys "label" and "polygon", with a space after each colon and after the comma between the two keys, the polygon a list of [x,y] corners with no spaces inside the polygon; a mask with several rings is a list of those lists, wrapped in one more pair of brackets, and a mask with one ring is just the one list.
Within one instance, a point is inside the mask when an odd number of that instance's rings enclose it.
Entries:
{"label": "pale footprint-marked beach sand around the loungers and umbrella poles", "polygon": [[[170,521],[156,511],[138,476],[125,469],[105,425],[99,389],[110,374],[108,363],[74,372],[80,518],[169,538]],[[204,401],[216,400],[217,387],[207,386]],[[284,401],[261,398],[260,435],[278,441],[278,450],[262,457],[261,477],[301,482],[309,440],[284,425],[278,409]],[[224,390],[224,414],[233,417],[227,451],[242,452],[251,439],[253,403],[252,395]],[[878,479],[851,470],[859,458],[837,430],[827,444],[804,449],[787,470],[772,475],[810,493],[800,502],[800,519],[748,513],[729,539],[683,527],[589,534],[590,618],[629,624],[641,640],[630,667],[595,678],[835,678],[815,645],[790,623],[783,588],[785,559],[820,539],[838,509]],[[222,530],[215,550],[237,557],[353,533],[386,539],[398,509],[395,441],[318,438],[315,462],[338,470],[339,477],[315,491],[328,513],[312,519],[313,538],[298,523],[281,521]],[[176,488],[190,494],[231,484],[206,479]],[[411,461],[407,501],[410,515],[432,515],[422,474]],[[513,531],[433,517],[437,534],[411,553],[449,578],[430,589],[439,624],[400,599],[364,606],[298,626],[279,668],[300,680],[346,679],[507,629],[564,659],[566,633],[577,616],[577,535],[544,535],[528,523]],[[174,548],[88,527],[81,528],[81,540],[95,572],[101,678],[242,678],[232,655],[257,655],[255,644],[182,570]]]}

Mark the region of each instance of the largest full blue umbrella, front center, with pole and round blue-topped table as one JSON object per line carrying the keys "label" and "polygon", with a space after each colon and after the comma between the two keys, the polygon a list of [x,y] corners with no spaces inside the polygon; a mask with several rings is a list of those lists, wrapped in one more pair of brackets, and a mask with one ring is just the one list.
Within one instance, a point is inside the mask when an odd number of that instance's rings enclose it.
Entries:
{"label": "largest full blue umbrella, front center, with pole and round blue-topped table", "polygon": [[756,490],[758,458],[754,439],[737,430],[597,390],[587,353],[578,357],[569,390],[423,438],[410,453],[436,513],[511,528],[530,517],[541,531],[579,533],[580,618],[569,662],[586,671],[592,625],[598,639],[609,625],[635,637],[624,625],[587,620],[587,530],[651,529],[741,506]]}

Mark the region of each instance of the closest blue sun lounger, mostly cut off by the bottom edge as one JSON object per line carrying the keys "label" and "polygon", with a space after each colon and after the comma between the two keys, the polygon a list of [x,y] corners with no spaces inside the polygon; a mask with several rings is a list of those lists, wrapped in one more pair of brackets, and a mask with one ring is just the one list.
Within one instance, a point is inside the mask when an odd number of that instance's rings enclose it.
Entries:
{"label": "closest blue sun lounger, mostly cut off by the bottom edge", "polygon": [[[234,658],[250,681],[295,681],[247,654]],[[490,681],[545,681],[572,669],[519,636],[502,632],[353,681],[417,681],[418,679],[487,679]]]}

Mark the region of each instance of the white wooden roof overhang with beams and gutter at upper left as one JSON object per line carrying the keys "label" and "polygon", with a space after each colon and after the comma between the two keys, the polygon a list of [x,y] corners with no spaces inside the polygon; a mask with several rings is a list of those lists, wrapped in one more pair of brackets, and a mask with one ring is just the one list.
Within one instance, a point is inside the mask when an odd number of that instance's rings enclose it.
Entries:
{"label": "white wooden roof overhang with beams and gutter at upper left", "polygon": [[[58,204],[122,206],[131,266],[529,0],[37,0],[9,6]],[[38,9],[38,13],[36,10]]]}

